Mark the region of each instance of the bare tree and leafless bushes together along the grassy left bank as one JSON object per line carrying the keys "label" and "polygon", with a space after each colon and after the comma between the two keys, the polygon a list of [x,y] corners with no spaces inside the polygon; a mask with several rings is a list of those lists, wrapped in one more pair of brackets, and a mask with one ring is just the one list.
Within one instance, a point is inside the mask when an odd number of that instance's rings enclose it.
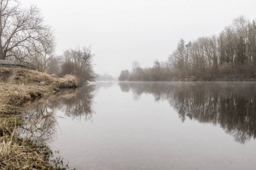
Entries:
{"label": "bare tree and leafless bushes together along the grassy left bank", "polygon": [[44,24],[40,9],[24,8],[18,0],[0,0],[0,60],[15,60],[28,69],[58,76],[75,75],[82,82],[96,77],[93,56],[86,47],[55,56],[55,35]]}

